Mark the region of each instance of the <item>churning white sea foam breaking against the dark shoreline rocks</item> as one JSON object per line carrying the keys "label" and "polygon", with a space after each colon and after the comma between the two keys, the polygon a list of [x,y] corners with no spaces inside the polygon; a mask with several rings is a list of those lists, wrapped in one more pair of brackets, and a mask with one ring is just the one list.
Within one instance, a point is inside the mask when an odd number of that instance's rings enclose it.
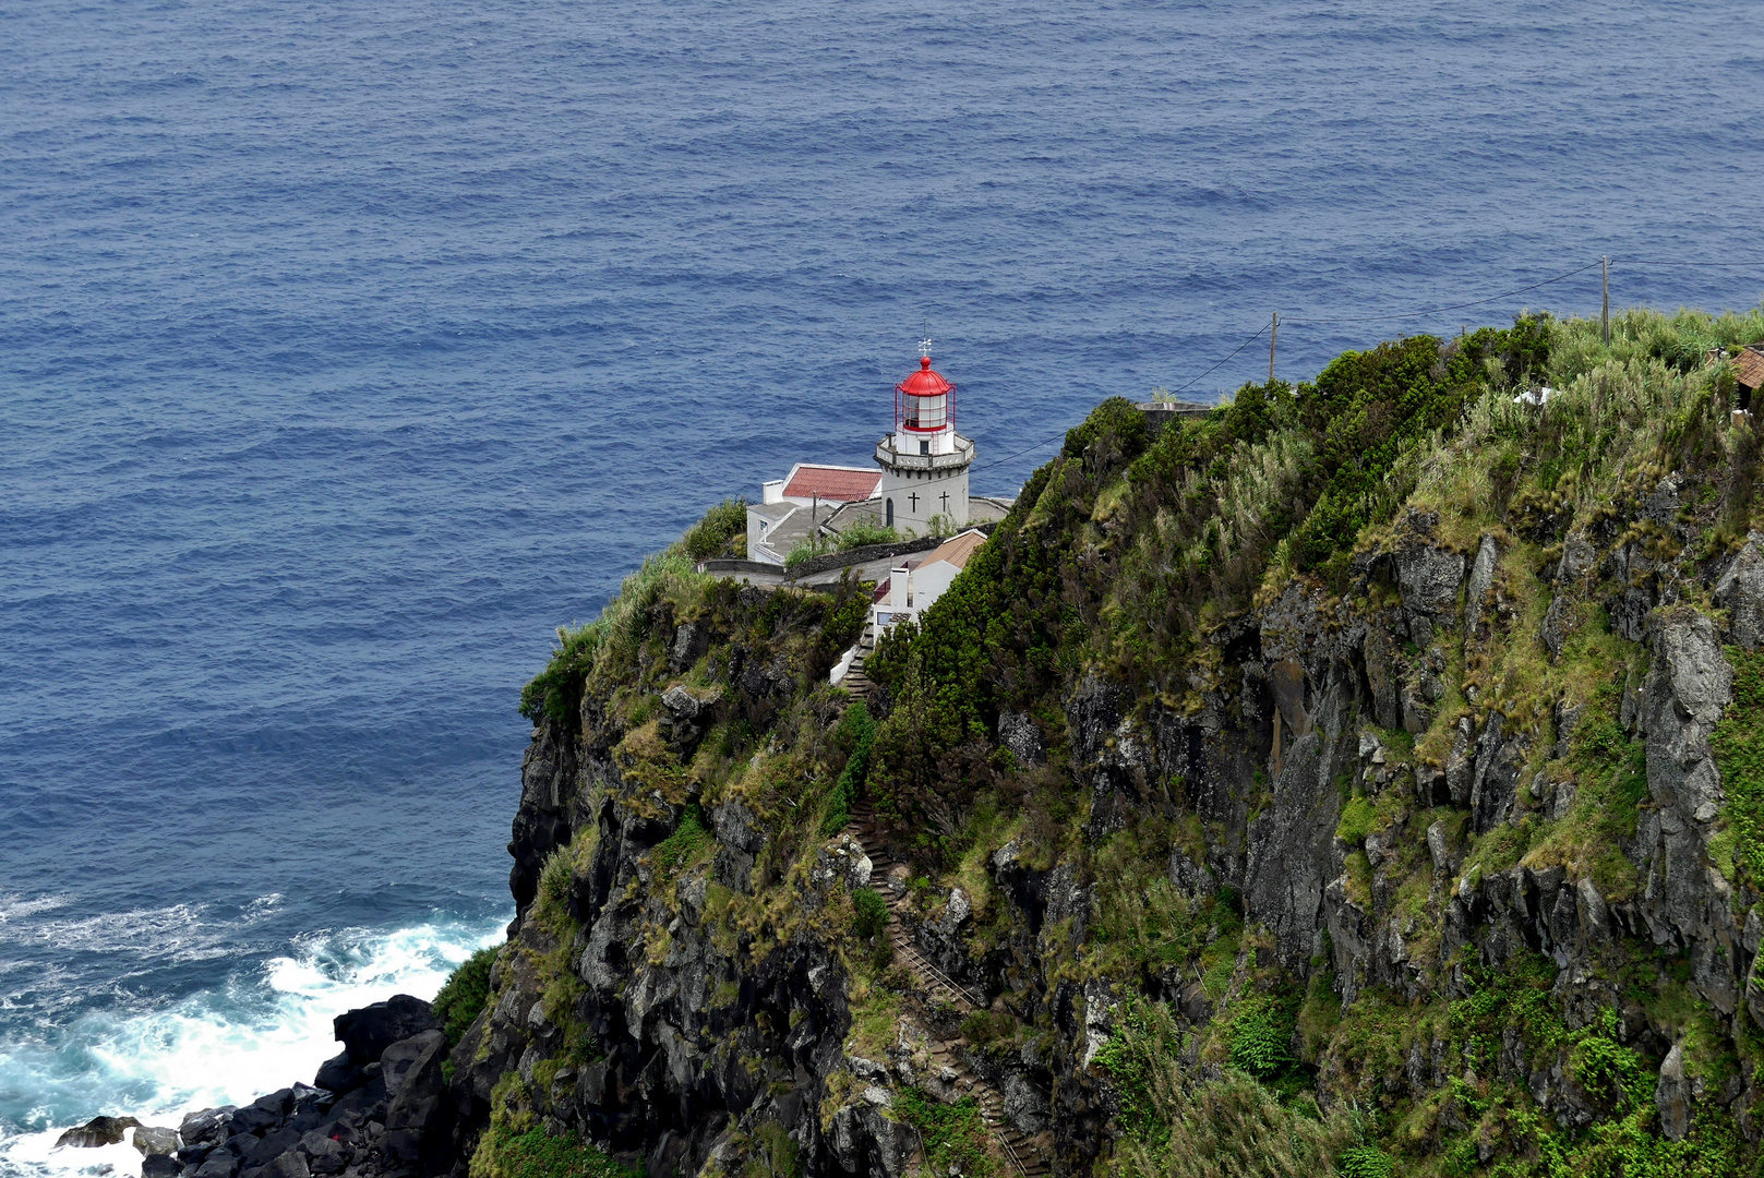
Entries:
{"label": "churning white sea foam breaking against the dark shoreline rocks", "polygon": [[88,1016],[53,1046],[0,1044],[0,1093],[35,1104],[23,1118],[26,1130],[0,1130],[0,1178],[139,1174],[141,1155],[127,1141],[56,1150],[55,1139],[97,1113],[175,1127],[199,1107],[245,1104],[296,1079],[310,1083],[337,1053],[335,1016],[395,993],[434,996],[467,954],[501,940],[501,922],[319,933],[254,977],[229,979],[162,1010]]}

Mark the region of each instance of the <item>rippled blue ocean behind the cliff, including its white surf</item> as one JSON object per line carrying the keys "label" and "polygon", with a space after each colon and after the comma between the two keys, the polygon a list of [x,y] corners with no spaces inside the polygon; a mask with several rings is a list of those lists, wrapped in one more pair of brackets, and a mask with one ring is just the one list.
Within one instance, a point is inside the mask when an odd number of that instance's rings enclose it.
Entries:
{"label": "rippled blue ocean behind the cliff, including its white surf", "polygon": [[1011,494],[1274,310],[1755,305],[1757,16],[0,0],[0,1173],[494,938],[552,628],[921,332]]}

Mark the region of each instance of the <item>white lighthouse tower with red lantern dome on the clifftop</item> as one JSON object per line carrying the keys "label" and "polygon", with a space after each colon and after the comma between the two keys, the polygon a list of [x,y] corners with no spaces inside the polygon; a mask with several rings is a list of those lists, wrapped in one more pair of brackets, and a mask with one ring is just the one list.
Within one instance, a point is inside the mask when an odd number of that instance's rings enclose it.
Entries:
{"label": "white lighthouse tower with red lantern dome on the clifftop", "polygon": [[894,430],[877,443],[882,522],[921,536],[968,522],[974,439],[956,432],[956,386],[931,370],[931,340],[919,346],[919,370],[894,386]]}

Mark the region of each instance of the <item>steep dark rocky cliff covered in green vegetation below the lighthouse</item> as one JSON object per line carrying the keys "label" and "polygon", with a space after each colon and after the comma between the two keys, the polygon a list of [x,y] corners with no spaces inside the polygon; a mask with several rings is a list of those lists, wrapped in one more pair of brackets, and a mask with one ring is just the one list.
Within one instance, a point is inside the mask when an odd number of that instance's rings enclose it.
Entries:
{"label": "steep dark rocky cliff covered in green vegetation below the lighthouse", "polygon": [[1753,1159],[1757,443],[1639,344],[1515,406],[1522,344],[1432,344],[1334,536],[1330,374],[1104,406],[871,660],[873,737],[861,598],[633,578],[534,725],[471,1171]]}

